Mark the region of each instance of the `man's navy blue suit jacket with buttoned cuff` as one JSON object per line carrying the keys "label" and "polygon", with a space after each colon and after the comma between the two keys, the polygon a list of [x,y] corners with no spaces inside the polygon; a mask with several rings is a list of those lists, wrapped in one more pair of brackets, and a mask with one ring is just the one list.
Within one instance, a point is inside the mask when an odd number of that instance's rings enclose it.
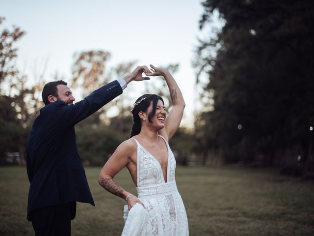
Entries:
{"label": "man's navy blue suit jacket with buttoned cuff", "polygon": [[119,82],[113,81],[74,105],[56,101],[40,110],[26,144],[27,219],[31,211],[42,207],[76,201],[95,206],[78,155],[74,125],[121,93]]}

